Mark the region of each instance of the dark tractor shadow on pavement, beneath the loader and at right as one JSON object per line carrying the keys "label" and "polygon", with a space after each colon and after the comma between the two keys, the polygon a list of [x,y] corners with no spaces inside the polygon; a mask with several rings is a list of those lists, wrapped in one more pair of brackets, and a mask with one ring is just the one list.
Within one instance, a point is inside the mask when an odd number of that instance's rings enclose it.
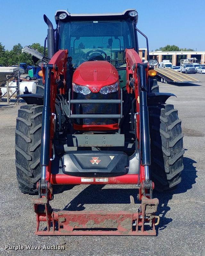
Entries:
{"label": "dark tractor shadow on pavement, beneath the loader and at right", "polygon": [[[166,217],[166,214],[171,209],[168,206],[169,200],[172,199],[175,194],[185,193],[187,190],[192,189],[192,185],[197,177],[196,168],[193,164],[196,163],[193,159],[184,157],[184,171],[182,171],[182,182],[177,185],[175,190],[169,190],[166,192],[158,192],[154,190],[153,198],[159,199],[159,206],[157,215],[160,216],[160,224],[157,226],[158,230],[163,230],[167,225],[172,222],[172,218]],[[54,194],[62,193],[65,190],[71,190],[74,186],[54,186]],[[86,205],[92,204],[126,204],[120,210],[137,210],[140,201],[136,199],[138,189],[126,189],[126,188],[106,188],[104,185],[89,185],[82,190],[74,199],[72,199],[63,208],[67,211],[83,211],[86,209]],[[130,205],[130,196],[133,196],[135,204]],[[116,210],[113,206],[107,207],[109,210]],[[107,209],[106,208],[106,209]],[[98,209],[95,209],[98,210]]]}

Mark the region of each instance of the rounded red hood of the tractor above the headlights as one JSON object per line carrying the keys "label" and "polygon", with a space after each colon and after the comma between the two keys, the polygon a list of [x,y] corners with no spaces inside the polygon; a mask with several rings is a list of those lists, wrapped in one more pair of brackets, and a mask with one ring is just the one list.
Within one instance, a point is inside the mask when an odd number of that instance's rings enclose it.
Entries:
{"label": "rounded red hood of the tractor above the headlights", "polygon": [[117,69],[108,61],[83,62],[73,74],[75,84],[88,86],[93,93],[98,93],[103,86],[115,84],[118,80]]}

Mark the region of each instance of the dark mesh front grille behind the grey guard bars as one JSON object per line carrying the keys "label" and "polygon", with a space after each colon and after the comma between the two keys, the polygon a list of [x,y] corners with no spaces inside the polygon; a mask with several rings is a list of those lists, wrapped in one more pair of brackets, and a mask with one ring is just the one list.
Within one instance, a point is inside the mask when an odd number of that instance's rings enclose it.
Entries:
{"label": "dark mesh front grille behind the grey guard bars", "polygon": [[[115,93],[89,93],[83,95],[82,93],[74,93],[72,98],[74,100],[119,100],[119,92]],[[73,114],[119,114],[119,104],[73,104]],[[77,125],[109,125],[118,123],[118,119],[108,118],[84,118],[74,119]]]}

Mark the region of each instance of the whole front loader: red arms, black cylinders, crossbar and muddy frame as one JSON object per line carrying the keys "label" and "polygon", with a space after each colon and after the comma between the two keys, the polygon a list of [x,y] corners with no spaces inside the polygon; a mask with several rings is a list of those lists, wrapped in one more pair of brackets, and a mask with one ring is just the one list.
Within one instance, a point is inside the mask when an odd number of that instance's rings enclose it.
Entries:
{"label": "whole front loader: red arms, black cylinders, crossbar and muddy frame", "polygon": [[[53,137],[55,131],[55,98],[58,80],[63,86],[60,94],[66,92],[67,50],[59,50],[48,65],[42,66],[45,84],[44,107],[42,113],[41,137],[41,181],[37,183],[39,198],[33,199],[37,216],[37,235],[156,235],[155,225],[159,217],[155,216],[158,199],[152,199],[153,183],[149,180],[150,147],[148,110],[146,105],[146,85],[148,64],[141,63],[139,55],[133,49],[126,50],[127,92],[135,93],[136,113],[135,131],[140,152],[139,174],[108,177],[101,184],[136,184],[139,188],[138,199],[142,204],[135,212],[130,211],[60,211],[54,212],[49,201],[53,199],[53,184],[84,184],[82,178],[68,174],[52,174]],[[142,136],[140,136],[142,134]],[[137,154],[136,154],[137,157]],[[94,180],[95,178],[93,178]],[[86,182],[86,184],[96,184]],[[99,182],[98,182],[99,184]],[[157,223],[156,222],[157,219]],[[40,223],[45,229],[40,230]],[[92,224],[92,225],[91,225]],[[109,224],[109,225],[108,225]],[[149,228],[145,228],[148,227]]]}

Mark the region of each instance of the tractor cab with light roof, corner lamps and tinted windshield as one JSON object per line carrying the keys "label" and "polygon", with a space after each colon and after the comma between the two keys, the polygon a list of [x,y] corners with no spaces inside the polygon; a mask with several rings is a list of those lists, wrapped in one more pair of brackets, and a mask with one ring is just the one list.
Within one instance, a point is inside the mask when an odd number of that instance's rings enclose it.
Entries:
{"label": "tractor cab with light roof, corner lamps and tinted windshield", "polygon": [[115,68],[122,67],[125,49],[136,49],[135,26],[137,12],[120,14],[70,14],[57,11],[56,50],[68,49],[73,68],[86,61],[108,61]]}

